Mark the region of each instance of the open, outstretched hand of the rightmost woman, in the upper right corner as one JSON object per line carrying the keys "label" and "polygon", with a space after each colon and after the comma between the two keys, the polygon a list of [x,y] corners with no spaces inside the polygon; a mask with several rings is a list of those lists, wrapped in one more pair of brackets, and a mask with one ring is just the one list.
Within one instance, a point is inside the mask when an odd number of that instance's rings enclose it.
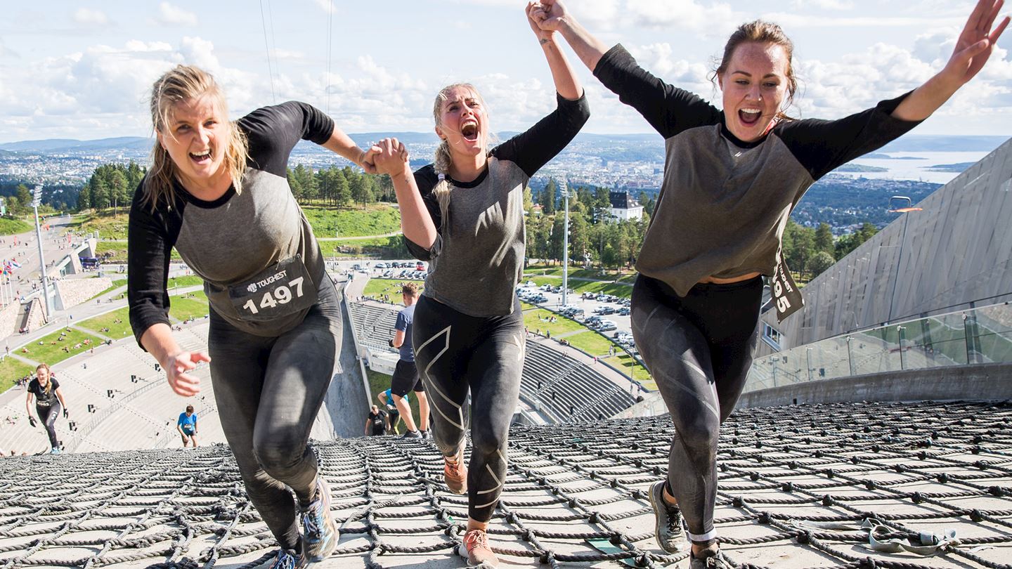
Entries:
{"label": "open, outstretched hand of the rightmost woman, in the upper right corner", "polygon": [[992,29],[1004,3],[1004,0],[978,1],[962,33],[956,39],[952,57],[942,70],[942,75],[948,80],[963,85],[984,68],[991,53],[995,51],[995,43],[1009,24],[1009,17],[1005,16]]}

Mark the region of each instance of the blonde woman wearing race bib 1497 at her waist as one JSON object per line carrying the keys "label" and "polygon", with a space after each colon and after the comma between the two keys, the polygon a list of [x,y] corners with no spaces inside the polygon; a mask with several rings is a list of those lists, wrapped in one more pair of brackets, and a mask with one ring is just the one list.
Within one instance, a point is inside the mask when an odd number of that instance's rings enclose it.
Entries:
{"label": "blonde woman wearing race bib 1497 at her waist", "polygon": [[[210,362],[225,437],[281,548],[271,567],[320,561],[333,552],[337,526],[309,436],[341,350],[341,309],[285,174],[304,139],[366,170],[370,154],[306,103],[259,108],[232,123],[224,92],[195,67],[178,66],[155,82],[151,118],[153,165],[130,214],[134,334],[183,397],[200,390],[195,365]],[[172,337],[166,279],[173,247],[204,281],[209,357]]]}

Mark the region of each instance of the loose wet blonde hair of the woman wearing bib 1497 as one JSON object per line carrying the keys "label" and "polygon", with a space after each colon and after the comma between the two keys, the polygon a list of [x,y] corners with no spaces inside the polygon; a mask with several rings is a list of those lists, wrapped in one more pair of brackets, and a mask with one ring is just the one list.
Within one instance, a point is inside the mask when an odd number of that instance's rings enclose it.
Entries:
{"label": "loose wet blonde hair of the woman wearing bib 1497", "polygon": [[[246,159],[249,155],[249,143],[246,134],[235,123],[228,121],[229,106],[225,93],[215,82],[215,78],[206,71],[193,66],[177,65],[155,81],[151,89],[151,124],[156,133],[172,137],[169,120],[176,104],[203,95],[215,97],[215,103],[223,114],[223,120],[229,126],[229,134],[225,147],[225,167],[229,169],[232,185],[236,193],[243,190],[243,172],[246,170]],[[152,210],[159,200],[172,204],[175,200],[173,178],[176,175],[176,165],[168,151],[161,143],[155,141],[151,150],[151,169],[144,178],[144,198]]]}

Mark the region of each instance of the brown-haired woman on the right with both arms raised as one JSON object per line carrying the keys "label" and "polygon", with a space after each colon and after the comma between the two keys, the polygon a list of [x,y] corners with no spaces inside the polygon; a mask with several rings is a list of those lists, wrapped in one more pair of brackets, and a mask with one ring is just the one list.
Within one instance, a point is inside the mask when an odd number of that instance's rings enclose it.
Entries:
{"label": "brown-haired woman on the right with both arms raised", "polygon": [[684,516],[692,568],[729,567],[713,529],[720,425],[752,362],[772,277],[781,319],[800,304],[780,255],[790,211],[815,180],[913,129],[984,66],[1008,18],[981,0],[941,72],[916,90],[837,120],[793,120],[793,47],[779,26],[753,21],[728,40],[712,77],[723,109],[608,48],[558,0],[532,16],[559,31],[619,99],[665,139],[664,181],[637,260],[632,335],[671,411],[667,480],[653,486],[657,541],[674,553]]}

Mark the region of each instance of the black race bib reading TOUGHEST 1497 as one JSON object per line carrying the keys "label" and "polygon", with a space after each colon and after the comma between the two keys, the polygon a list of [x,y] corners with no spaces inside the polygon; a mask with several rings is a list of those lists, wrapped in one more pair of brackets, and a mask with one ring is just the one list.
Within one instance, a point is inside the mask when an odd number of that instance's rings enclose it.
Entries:
{"label": "black race bib reading TOUGHEST 1497", "polygon": [[310,308],[317,302],[317,289],[302,255],[296,255],[229,287],[229,300],[243,320],[265,322]]}

